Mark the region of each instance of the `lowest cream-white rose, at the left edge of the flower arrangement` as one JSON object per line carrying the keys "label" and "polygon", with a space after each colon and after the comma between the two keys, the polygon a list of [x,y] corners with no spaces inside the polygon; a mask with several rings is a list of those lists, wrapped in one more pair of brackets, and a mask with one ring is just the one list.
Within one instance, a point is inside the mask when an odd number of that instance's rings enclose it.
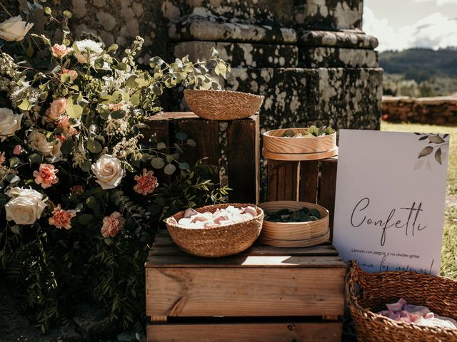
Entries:
{"label": "lowest cream-white rose, at the left edge of the flower arrangement", "polygon": [[6,219],[16,224],[34,223],[46,208],[44,196],[36,190],[14,187],[8,195],[13,198],[5,204]]}

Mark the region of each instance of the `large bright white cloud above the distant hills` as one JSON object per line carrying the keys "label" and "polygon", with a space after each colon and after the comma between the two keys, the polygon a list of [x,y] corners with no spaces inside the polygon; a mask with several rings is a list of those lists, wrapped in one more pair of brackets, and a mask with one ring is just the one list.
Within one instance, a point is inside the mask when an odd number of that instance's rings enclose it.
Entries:
{"label": "large bright white cloud above the distant hills", "polygon": [[448,18],[439,12],[430,14],[413,25],[394,30],[388,19],[376,18],[373,11],[365,7],[363,31],[378,38],[379,51],[416,47],[437,49],[457,45],[457,19]]}

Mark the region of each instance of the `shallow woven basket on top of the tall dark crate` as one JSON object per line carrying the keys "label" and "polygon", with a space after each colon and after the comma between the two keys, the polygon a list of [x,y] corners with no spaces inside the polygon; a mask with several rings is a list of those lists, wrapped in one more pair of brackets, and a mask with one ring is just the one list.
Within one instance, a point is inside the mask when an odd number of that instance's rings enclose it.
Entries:
{"label": "shallow woven basket on top of the tall dark crate", "polygon": [[263,96],[227,90],[184,90],[189,108],[208,120],[237,120],[255,114]]}

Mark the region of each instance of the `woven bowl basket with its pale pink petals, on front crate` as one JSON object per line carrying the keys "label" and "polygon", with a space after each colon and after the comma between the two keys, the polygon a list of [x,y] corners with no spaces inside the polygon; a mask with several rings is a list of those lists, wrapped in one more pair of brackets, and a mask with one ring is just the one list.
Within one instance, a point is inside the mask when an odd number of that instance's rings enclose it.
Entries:
{"label": "woven bowl basket with its pale pink petals, on front crate", "polygon": [[226,257],[251,247],[261,232],[263,210],[253,204],[186,209],[166,219],[171,239],[198,257]]}

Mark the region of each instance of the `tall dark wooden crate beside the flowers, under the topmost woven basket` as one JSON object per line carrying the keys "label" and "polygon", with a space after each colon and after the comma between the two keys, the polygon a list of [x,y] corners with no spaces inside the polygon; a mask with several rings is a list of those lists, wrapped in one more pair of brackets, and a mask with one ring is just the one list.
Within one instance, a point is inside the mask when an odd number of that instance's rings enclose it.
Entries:
{"label": "tall dark wooden crate beside the flowers, under the topmost woven basket", "polygon": [[191,112],[166,112],[154,115],[147,124],[149,129],[143,132],[145,138],[156,135],[158,142],[165,142],[167,146],[176,142],[177,132],[186,133],[197,145],[186,150],[182,157],[184,161],[194,165],[197,160],[207,158],[209,165],[224,170],[224,175],[216,181],[233,189],[229,192],[230,202],[258,204],[258,115],[241,120],[213,121]]}

